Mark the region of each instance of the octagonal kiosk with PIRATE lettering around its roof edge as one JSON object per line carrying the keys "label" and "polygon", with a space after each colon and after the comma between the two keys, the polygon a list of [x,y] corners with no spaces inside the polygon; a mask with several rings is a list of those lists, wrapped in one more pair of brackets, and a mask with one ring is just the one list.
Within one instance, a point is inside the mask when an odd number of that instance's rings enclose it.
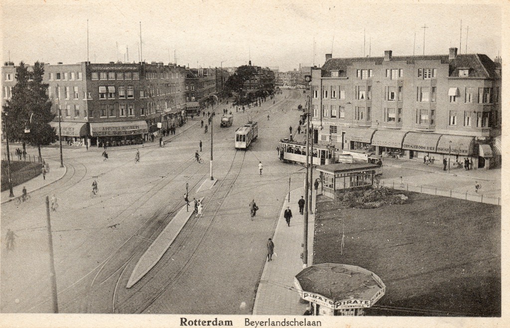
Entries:
{"label": "octagonal kiosk with PIRATE lettering around its roof edge", "polygon": [[355,265],[323,263],[294,277],[301,298],[311,302],[313,315],[364,315],[386,292],[373,272]]}

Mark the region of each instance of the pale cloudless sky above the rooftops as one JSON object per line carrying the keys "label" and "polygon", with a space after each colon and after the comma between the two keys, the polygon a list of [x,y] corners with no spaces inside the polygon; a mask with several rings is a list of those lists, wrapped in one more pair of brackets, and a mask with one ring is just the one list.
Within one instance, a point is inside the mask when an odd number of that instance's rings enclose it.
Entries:
{"label": "pale cloudless sky above the rooftops", "polygon": [[[356,5],[353,5],[353,4]],[[190,67],[322,66],[333,57],[501,56],[498,2],[2,0],[2,62],[146,62]],[[426,29],[422,27],[426,26]],[[416,37],[415,37],[416,34]],[[315,56],[314,56],[315,41]],[[126,49],[127,48],[127,49]],[[126,54],[127,53],[127,54]],[[126,56],[129,55],[129,56]]]}

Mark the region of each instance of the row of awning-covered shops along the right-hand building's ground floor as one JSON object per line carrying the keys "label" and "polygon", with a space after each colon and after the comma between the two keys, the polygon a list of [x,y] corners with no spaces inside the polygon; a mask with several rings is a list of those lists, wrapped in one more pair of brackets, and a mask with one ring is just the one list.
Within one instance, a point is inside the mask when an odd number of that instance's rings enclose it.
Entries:
{"label": "row of awning-covered shops along the right-hand building's ground floor", "polygon": [[463,162],[468,158],[473,168],[494,168],[501,165],[501,136],[492,144],[482,144],[472,136],[455,136],[391,130],[349,128],[343,136],[344,149],[393,154],[408,159],[425,156],[441,165],[443,158]]}

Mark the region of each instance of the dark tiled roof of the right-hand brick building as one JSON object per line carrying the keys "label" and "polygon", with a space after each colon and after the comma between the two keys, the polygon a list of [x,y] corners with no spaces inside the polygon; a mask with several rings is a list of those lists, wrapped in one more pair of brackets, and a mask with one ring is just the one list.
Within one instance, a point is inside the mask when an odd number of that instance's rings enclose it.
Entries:
{"label": "dark tiled roof of the right-hand brick building", "polygon": [[[499,79],[496,73],[498,64],[494,63],[487,55],[483,54],[458,54],[454,59],[449,59],[448,55],[419,55],[419,56],[392,56],[390,61],[405,61],[406,64],[414,64],[423,60],[439,60],[441,64],[449,64],[449,76],[458,77],[459,68],[471,68],[469,77]],[[375,65],[381,65],[384,57],[353,57],[353,58],[332,58],[322,66],[323,77],[330,77],[331,70],[345,71],[348,66],[355,63],[374,62]]]}

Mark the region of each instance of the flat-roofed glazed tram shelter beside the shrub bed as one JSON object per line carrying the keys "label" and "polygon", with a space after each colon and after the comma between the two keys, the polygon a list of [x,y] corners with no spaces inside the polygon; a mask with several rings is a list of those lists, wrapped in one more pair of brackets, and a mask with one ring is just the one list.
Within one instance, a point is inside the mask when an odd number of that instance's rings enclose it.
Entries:
{"label": "flat-roofed glazed tram shelter beside the shrub bed", "polygon": [[374,176],[380,173],[380,166],[365,162],[337,163],[317,166],[317,170],[322,177],[322,193],[335,198],[337,191],[373,185]]}

